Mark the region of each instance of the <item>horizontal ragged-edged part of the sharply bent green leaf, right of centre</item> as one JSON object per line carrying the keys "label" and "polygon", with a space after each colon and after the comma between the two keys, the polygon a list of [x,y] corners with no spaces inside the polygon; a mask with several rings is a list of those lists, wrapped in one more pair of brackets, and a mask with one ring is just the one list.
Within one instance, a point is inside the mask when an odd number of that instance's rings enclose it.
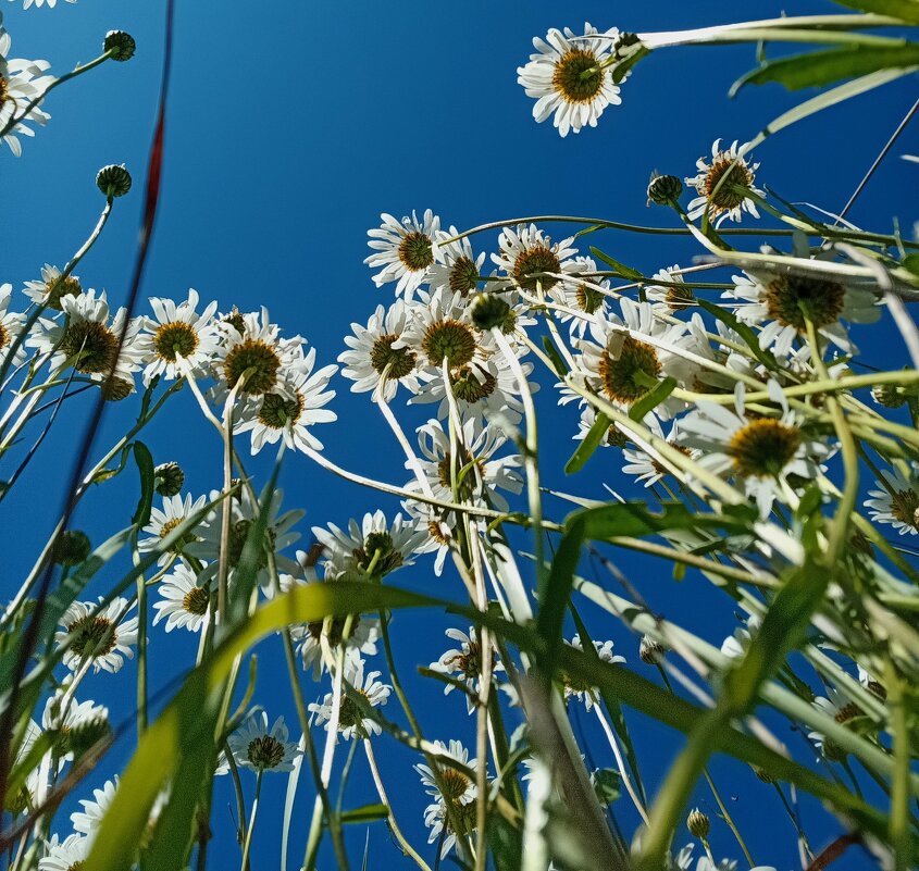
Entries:
{"label": "horizontal ragged-edged part of the sharply bent green leaf, right of centre", "polygon": [[584,522],[584,537],[606,540],[616,536],[655,535],[671,530],[718,528],[729,533],[745,533],[756,520],[756,509],[742,507],[742,511],[724,514],[699,514],[682,502],[662,502],[661,511],[649,511],[645,502],[613,502],[599,508],[587,508],[572,514]]}

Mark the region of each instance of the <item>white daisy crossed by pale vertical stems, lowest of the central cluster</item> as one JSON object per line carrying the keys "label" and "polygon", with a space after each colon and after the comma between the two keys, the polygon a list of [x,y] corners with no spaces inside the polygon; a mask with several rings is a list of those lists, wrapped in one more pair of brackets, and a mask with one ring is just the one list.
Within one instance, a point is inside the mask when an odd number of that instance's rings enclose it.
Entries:
{"label": "white daisy crossed by pale vertical stems, lowest of the central cluster", "polygon": [[[450,455],[450,436],[440,421],[431,420],[418,428],[421,449],[421,468],[435,496],[451,499],[454,458]],[[496,458],[495,453],[508,441],[507,436],[493,426],[483,426],[475,418],[463,422],[459,433],[459,456],[456,458],[458,497],[465,502],[487,501],[499,511],[507,511],[508,503],[500,489],[518,494],[523,489],[523,478],[517,471],[520,457],[510,453]],[[406,463],[406,469],[411,469]],[[413,478],[406,485],[418,489]]]}

